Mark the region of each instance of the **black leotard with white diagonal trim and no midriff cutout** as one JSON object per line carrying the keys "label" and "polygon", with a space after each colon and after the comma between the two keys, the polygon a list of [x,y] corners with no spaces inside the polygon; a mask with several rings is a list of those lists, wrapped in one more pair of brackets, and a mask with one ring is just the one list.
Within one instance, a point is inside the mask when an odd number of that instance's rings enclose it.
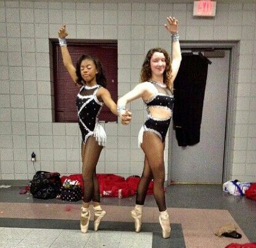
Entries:
{"label": "black leotard with white diagonal trim and no midriff cutout", "polygon": [[90,136],[94,136],[99,145],[104,146],[106,143],[106,133],[98,123],[98,115],[103,107],[103,103],[96,96],[100,87],[84,85],[77,95],[77,115],[84,144]]}

